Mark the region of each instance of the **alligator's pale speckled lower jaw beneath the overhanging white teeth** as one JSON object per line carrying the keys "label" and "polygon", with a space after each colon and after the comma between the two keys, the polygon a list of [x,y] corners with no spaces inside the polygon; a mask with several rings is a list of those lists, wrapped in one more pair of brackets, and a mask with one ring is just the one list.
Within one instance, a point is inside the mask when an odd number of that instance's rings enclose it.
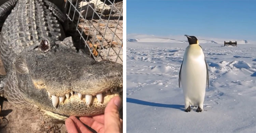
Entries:
{"label": "alligator's pale speckled lower jaw beneath the overhanging white teeth", "polygon": [[[45,90],[45,89],[44,89]],[[35,103],[38,105],[39,108],[44,110],[45,114],[52,116],[53,118],[62,120],[68,116],[91,116],[96,114],[104,113],[104,109],[111,98],[115,96],[122,97],[123,95],[123,87],[117,88],[116,90],[113,89],[107,90],[106,92],[102,93],[102,101],[99,102],[97,95],[91,97],[90,104],[86,102],[86,96],[82,95],[82,98],[79,97],[79,94],[73,92],[73,94],[69,94],[69,97],[66,96],[63,100],[60,97],[50,95],[48,96],[47,91],[45,91],[45,97],[47,97],[47,101],[45,104]],[[60,99],[62,101],[60,101]],[[53,100],[54,105],[53,105]],[[56,104],[57,102],[57,104]],[[45,106],[47,105],[47,106]],[[49,107],[50,106],[50,107]],[[56,106],[56,107],[54,107]],[[51,113],[50,113],[51,112]]]}

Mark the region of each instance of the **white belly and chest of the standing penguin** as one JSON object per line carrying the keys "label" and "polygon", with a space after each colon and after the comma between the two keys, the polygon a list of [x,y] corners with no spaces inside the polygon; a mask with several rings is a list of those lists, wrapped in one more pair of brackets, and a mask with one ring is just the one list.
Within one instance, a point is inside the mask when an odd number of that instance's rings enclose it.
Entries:
{"label": "white belly and chest of the standing penguin", "polygon": [[[198,45],[198,47],[200,46]],[[181,68],[181,85],[184,98],[192,106],[198,106],[202,103],[205,96],[207,70],[203,51],[200,50],[195,46],[194,48],[188,46]]]}

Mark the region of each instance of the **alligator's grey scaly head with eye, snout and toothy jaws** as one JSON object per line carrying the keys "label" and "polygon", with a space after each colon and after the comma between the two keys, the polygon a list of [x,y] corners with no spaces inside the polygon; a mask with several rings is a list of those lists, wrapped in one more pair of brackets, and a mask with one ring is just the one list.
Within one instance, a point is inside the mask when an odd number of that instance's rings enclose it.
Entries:
{"label": "alligator's grey scaly head with eye, snout and toothy jaws", "polygon": [[43,40],[17,55],[13,70],[20,94],[57,119],[103,113],[110,99],[123,93],[123,65],[97,62],[72,49],[70,40]]}

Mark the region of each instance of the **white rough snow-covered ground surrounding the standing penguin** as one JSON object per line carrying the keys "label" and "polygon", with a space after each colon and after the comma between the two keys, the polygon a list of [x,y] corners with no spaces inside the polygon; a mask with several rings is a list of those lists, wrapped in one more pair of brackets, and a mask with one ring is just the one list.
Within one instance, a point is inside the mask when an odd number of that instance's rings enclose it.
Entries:
{"label": "white rough snow-covered ground surrounding the standing penguin", "polygon": [[127,132],[256,132],[256,45],[201,44],[209,65],[204,111],[184,112],[187,43],[127,42]]}

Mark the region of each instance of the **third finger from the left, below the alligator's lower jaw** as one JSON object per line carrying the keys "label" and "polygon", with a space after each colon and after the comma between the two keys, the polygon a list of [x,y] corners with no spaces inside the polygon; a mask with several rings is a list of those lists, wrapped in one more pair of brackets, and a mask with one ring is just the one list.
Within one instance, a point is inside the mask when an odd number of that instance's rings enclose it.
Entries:
{"label": "third finger from the left, below the alligator's lower jaw", "polygon": [[104,125],[95,119],[91,117],[79,117],[79,119],[85,123],[87,126],[91,127],[94,129],[97,133],[103,133],[104,132]]}

